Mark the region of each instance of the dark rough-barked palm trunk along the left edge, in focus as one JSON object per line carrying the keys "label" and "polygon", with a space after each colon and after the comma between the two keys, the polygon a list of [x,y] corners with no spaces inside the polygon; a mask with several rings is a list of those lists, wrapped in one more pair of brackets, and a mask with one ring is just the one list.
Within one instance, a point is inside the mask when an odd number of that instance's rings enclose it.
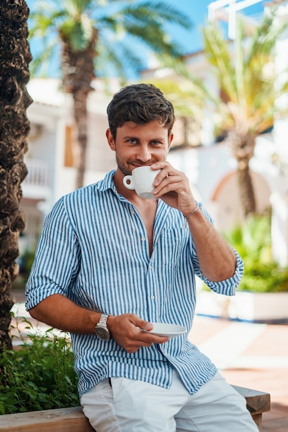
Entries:
{"label": "dark rough-barked palm trunk along the left edge, in focus", "polygon": [[[27,170],[29,121],[25,115],[31,99],[26,91],[31,60],[28,45],[28,7],[25,1],[2,0],[0,16],[0,353],[12,348],[8,333],[13,306],[11,287],[18,273],[18,237],[25,218],[19,210],[21,181]],[[2,377],[0,371],[0,377]]]}

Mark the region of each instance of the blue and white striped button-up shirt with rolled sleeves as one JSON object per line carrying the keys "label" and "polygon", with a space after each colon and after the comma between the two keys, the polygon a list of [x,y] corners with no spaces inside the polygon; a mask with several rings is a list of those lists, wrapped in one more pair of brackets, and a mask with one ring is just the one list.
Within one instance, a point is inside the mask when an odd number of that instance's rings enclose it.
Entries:
{"label": "blue and white striped button-up shirt with rolled sleeves", "polygon": [[[26,308],[60,293],[85,308],[112,315],[135,313],[150,322],[181,324],[189,332],[196,304],[194,275],[217,293],[234,295],[243,262],[235,252],[233,277],[223,282],[206,279],[187,222],[179,210],[161,199],[150,257],[143,220],[117,193],[114,173],[54,205],[39,239],[26,287]],[[127,353],[113,339],[105,342],[96,335],[71,336],[80,397],[91,386],[114,376],[169,388],[172,367],[189,393],[195,393],[216,373],[216,366],[187,335],[143,346],[136,353]]]}

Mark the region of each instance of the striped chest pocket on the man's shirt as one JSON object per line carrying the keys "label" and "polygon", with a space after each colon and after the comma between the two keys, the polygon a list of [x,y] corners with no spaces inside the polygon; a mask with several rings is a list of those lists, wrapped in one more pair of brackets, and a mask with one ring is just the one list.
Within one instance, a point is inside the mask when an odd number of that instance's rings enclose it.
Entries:
{"label": "striped chest pocket on the man's shirt", "polygon": [[178,266],[181,253],[187,243],[189,230],[166,228],[161,234],[161,257],[165,266]]}

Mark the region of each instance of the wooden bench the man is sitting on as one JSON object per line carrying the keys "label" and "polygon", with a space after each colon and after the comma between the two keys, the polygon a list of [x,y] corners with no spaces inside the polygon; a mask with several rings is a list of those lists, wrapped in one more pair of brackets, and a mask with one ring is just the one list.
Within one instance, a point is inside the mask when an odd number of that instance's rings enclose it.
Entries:
{"label": "wooden bench the man is sitting on", "polygon": [[[262,413],[270,410],[270,395],[234,386],[247,402],[247,409],[261,431]],[[81,406],[0,415],[1,432],[94,432]]]}

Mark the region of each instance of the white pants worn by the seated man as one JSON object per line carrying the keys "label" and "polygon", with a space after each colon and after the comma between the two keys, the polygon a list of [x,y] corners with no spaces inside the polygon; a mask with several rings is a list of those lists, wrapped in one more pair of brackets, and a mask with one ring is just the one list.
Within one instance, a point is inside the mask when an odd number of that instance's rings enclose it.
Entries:
{"label": "white pants worn by the seated man", "polygon": [[258,432],[245,398],[217,373],[189,395],[176,371],[170,389],[115,377],[81,397],[97,432]]}

